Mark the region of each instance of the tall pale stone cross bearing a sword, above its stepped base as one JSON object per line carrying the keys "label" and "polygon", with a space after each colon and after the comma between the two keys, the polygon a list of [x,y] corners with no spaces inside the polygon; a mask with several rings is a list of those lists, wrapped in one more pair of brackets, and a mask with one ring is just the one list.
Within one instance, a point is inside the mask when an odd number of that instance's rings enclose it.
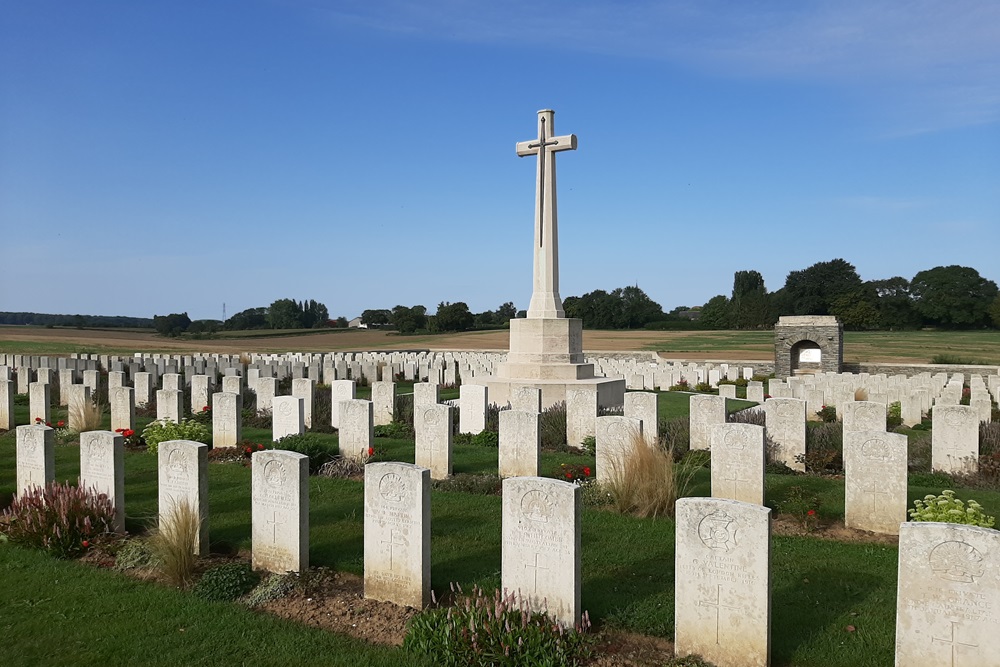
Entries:
{"label": "tall pale stone cross bearing a sword, above its stepped base", "polygon": [[559,298],[559,226],[556,217],[556,160],[558,151],[576,150],[576,135],[555,134],[551,109],[538,112],[538,138],[517,144],[518,157],[538,156],[535,185],[535,263],[530,318],[565,317]]}

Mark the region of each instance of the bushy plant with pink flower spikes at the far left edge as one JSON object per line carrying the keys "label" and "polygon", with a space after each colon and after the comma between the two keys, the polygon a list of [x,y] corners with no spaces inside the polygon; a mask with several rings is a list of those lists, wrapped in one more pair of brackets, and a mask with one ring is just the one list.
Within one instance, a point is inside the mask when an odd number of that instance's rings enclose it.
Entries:
{"label": "bushy plant with pink flower spikes at the far left edge", "polygon": [[0,530],[15,544],[73,558],[94,540],[113,533],[114,517],[115,508],[107,495],[49,482],[15,497],[0,515]]}

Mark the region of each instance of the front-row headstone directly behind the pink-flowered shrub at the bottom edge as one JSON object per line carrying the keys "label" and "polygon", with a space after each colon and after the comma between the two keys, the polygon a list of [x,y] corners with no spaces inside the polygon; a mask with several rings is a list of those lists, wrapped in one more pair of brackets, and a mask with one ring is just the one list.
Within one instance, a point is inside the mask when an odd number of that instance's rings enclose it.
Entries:
{"label": "front-row headstone directly behind the pink-flowered shrub at the bottom edge", "polygon": [[502,587],[567,627],[581,614],[580,493],[541,477],[503,481]]}

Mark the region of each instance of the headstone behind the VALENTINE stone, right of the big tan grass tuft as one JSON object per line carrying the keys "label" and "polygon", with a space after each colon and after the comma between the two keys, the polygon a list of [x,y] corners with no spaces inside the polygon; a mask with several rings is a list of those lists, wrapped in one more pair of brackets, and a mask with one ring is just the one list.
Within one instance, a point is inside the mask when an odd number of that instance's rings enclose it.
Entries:
{"label": "headstone behind the VALENTINE stone, right of the big tan grass tuft", "polygon": [[764,504],[764,427],[712,427],[712,497]]}

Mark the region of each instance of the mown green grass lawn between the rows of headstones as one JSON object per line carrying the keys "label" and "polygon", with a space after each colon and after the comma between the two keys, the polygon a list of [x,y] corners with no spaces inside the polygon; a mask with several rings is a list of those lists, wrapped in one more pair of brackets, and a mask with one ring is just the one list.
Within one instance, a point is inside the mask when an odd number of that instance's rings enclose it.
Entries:
{"label": "mown green grass lawn between the rows of headstones", "polygon": [[[687,396],[661,396],[666,414],[686,414]],[[730,402],[731,408],[739,403]],[[745,402],[743,402],[745,403]],[[18,417],[27,412],[18,407]],[[247,437],[267,439],[264,430]],[[324,436],[335,443],[336,436]],[[14,488],[14,434],[0,435],[0,498]],[[381,460],[413,461],[411,440],[377,439]],[[497,451],[456,445],[456,473],[493,473]],[[545,452],[542,471],[593,457]],[[143,531],[156,513],[156,457],[125,458],[127,526]],[[79,447],[56,448],[56,476],[75,480]],[[926,479],[923,476],[920,479]],[[824,520],[843,518],[843,481],[768,475],[768,504],[792,486],[815,494]],[[312,477],[310,560],[361,574],[363,489],[357,481]],[[250,470],[209,465],[212,549],[250,548]],[[707,469],[690,495],[709,494]],[[913,485],[910,500],[940,488]],[[987,513],[1000,513],[1000,493],[963,491]],[[500,498],[459,491],[431,495],[432,582],[491,588],[500,583]],[[673,531],[668,519],[636,519],[607,509],[583,512],[583,606],[606,627],[670,638],[673,634]],[[893,662],[896,560],[894,546],[842,543],[814,536],[772,538],[772,642],[776,666],[872,667]],[[362,645],[190,594],[76,563],[0,545],[0,630],[4,664],[412,664],[398,649]],[[854,628],[848,630],[848,626]],[[10,661],[12,659],[13,661]],[[338,662],[339,661],[339,662]]]}

